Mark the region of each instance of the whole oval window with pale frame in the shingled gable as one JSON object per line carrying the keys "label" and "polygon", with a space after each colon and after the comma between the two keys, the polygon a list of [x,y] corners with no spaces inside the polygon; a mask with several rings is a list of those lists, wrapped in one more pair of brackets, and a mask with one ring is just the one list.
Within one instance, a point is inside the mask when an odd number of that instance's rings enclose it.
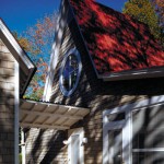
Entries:
{"label": "whole oval window with pale frame in the shingled gable", "polygon": [[81,74],[81,59],[79,51],[73,48],[66,54],[60,70],[60,90],[65,96],[71,95],[77,89]]}

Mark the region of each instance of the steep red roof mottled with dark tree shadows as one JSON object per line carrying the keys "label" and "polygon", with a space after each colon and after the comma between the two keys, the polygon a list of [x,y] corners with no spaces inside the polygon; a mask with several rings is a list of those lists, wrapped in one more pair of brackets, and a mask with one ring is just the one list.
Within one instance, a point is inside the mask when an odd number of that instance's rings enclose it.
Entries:
{"label": "steep red roof mottled with dark tree shadows", "polygon": [[70,0],[98,78],[164,75],[164,51],[148,26],[93,0]]}

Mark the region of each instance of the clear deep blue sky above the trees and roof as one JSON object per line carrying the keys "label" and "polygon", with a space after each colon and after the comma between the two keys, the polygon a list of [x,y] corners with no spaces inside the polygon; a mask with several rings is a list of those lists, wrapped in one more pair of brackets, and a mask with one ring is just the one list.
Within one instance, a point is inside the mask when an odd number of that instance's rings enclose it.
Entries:
{"label": "clear deep blue sky above the trees and roof", "polygon": [[[127,0],[96,0],[115,10],[121,11]],[[59,9],[60,0],[0,0],[0,17],[11,31],[21,34],[46,13]]]}

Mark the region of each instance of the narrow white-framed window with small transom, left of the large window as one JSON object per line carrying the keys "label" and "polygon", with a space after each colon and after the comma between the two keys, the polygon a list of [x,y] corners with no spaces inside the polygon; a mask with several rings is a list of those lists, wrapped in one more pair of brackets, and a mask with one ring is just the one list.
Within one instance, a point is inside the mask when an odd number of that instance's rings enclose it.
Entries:
{"label": "narrow white-framed window with small transom, left of the large window", "polygon": [[125,164],[125,112],[106,110],[103,116],[103,164]]}

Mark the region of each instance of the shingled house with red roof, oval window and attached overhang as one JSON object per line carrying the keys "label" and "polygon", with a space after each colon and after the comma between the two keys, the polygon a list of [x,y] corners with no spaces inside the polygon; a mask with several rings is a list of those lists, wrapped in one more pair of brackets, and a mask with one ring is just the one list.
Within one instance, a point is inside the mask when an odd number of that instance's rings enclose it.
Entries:
{"label": "shingled house with red roof, oval window and attached overhang", "polygon": [[21,99],[27,164],[162,164],[164,51],[148,26],[62,0],[43,102]]}

